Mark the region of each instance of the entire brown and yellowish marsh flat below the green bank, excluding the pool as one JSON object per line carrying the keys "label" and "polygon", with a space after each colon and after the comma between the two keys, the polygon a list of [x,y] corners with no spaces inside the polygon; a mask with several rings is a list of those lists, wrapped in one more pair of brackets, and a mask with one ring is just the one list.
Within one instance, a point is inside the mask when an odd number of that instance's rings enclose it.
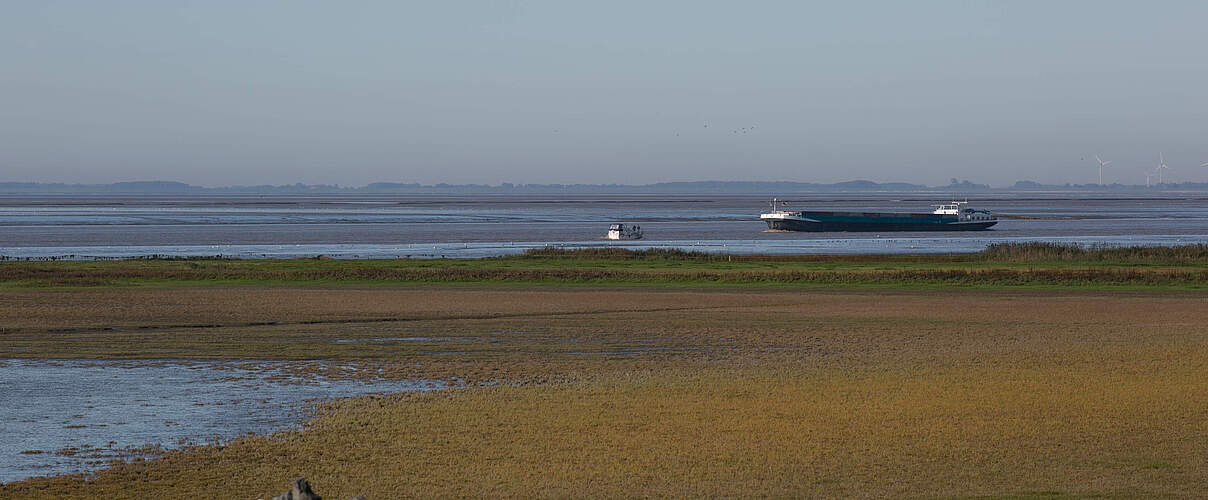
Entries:
{"label": "entire brown and yellowish marsh flat below the green bank, excluding the pool", "polygon": [[7,357],[278,360],[465,384],[332,401],[302,429],[0,498],[268,498],[294,477],[371,499],[1208,490],[1208,297],[1183,287],[320,280],[0,300]]}

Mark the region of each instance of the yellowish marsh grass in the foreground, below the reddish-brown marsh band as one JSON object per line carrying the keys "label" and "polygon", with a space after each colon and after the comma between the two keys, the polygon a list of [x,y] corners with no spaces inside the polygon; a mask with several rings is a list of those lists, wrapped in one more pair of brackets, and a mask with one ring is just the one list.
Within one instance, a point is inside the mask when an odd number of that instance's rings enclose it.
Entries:
{"label": "yellowish marsh grass in the foreground, below the reddish-brown marsh band", "polygon": [[[575,384],[358,399],[310,429],[30,479],[0,496],[1194,498],[1202,345],[946,362],[692,362]],[[1050,495],[1045,495],[1050,496]]]}

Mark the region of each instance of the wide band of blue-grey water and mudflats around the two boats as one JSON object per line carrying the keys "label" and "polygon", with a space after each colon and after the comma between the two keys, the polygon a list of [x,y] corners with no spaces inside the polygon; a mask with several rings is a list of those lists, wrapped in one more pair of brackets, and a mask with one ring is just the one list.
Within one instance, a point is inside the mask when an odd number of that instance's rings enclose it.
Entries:
{"label": "wide band of blue-grey water and mudflats around the two boats", "polygon": [[[476,257],[546,245],[759,254],[977,251],[993,242],[1208,243],[1208,193],[988,194],[1004,220],[975,233],[771,233],[760,196],[0,197],[0,255]],[[791,208],[928,211],[945,193],[788,196]],[[641,242],[603,239],[614,221]]]}

